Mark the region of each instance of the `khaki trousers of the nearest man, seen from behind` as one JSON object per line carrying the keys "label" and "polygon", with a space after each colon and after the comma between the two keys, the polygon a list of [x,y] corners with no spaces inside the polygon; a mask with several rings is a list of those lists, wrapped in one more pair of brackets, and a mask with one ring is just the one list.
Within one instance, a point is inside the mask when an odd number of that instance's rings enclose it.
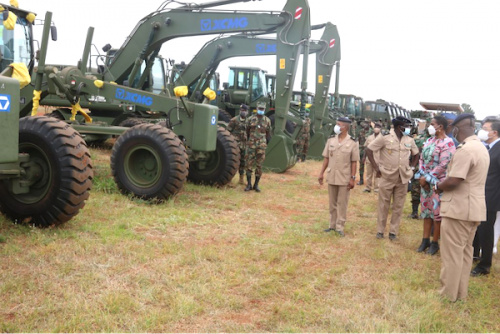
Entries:
{"label": "khaki trousers of the nearest man, seen from behind", "polygon": [[479,222],[443,217],[441,221],[441,290],[452,302],[467,297],[472,241]]}

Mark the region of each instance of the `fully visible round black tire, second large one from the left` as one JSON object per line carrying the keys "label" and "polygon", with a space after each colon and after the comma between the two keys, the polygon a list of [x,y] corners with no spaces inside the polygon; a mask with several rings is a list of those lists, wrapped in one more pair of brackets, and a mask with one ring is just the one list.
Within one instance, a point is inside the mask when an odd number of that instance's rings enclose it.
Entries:
{"label": "fully visible round black tire, second large one from the left", "polygon": [[123,194],[166,200],[186,182],[186,149],[171,130],[139,124],[118,137],[111,153],[111,171]]}

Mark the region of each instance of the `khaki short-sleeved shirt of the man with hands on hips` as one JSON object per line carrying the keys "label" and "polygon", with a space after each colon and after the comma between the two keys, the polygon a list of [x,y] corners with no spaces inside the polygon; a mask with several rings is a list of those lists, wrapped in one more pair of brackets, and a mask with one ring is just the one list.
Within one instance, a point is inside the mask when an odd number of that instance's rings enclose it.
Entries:
{"label": "khaki short-sleeved shirt of the man with hands on hips", "polygon": [[413,177],[410,157],[419,152],[413,138],[403,135],[400,141],[394,129],[391,129],[388,135],[377,136],[368,148],[374,154],[380,151],[379,169],[385,180],[408,183]]}

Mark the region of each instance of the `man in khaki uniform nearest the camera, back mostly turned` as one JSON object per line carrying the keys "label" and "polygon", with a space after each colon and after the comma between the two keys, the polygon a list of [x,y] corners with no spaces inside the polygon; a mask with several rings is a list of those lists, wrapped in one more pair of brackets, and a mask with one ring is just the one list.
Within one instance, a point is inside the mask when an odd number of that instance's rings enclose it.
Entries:
{"label": "man in khaki uniform nearest the camera, back mostly turned", "polygon": [[461,114],[452,123],[458,145],[446,179],[435,185],[441,197],[441,284],[451,301],[465,299],[472,268],[472,241],[479,222],[486,219],[485,183],[488,151],[474,135],[474,115]]}

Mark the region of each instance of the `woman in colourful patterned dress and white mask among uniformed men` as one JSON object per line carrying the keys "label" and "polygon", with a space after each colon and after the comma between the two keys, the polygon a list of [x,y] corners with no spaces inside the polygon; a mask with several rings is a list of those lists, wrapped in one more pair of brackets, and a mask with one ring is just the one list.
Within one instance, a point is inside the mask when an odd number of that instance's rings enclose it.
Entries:
{"label": "woman in colourful patterned dress and white mask among uniformed men", "polygon": [[[426,140],[420,155],[420,168],[415,174],[415,181],[420,183],[420,217],[424,219],[422,243],[417,249],[421,253],[434,255],[439,251],[441,216],[439,215],[440,195],[433,189],[434,185],[444,180],[451,156],[455,153],[453,140],[446,135],[448,121],[443,116],[435,116],[427,128],[431,136]],[[434,226],[432,242],[431,229]]]}

